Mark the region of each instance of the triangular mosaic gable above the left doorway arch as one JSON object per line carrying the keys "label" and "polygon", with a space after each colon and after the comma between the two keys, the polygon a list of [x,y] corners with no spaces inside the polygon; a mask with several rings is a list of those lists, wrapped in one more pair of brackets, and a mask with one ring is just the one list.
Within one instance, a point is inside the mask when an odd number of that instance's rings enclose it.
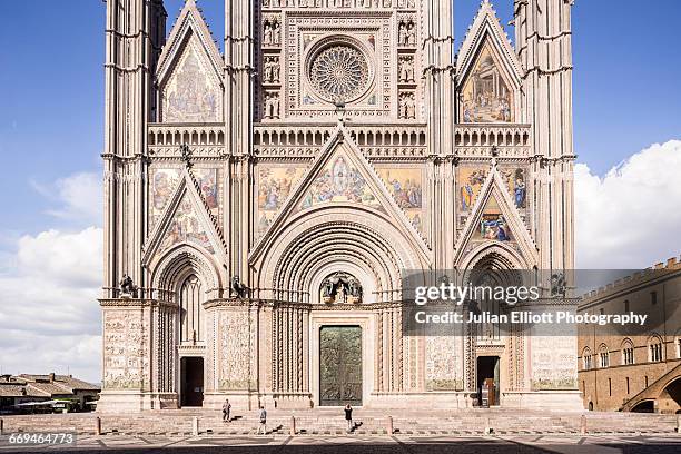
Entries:
{"label": "triangular mosaic gable above the left doorway arch", "polygon": [[[199,169],[200,171],[204,170]],[[203,179],[203,176],[196,179],[186,168],[181,170],[177,189],[144,247],[144,264],[150,264],[155,257],[179,244],[190,244],[226,260],[225,239],[215,220],[215,214],[211,213],[217,209],[217,200],[211,200],[213,193],[205,191],[200,184],[197,184]]]}

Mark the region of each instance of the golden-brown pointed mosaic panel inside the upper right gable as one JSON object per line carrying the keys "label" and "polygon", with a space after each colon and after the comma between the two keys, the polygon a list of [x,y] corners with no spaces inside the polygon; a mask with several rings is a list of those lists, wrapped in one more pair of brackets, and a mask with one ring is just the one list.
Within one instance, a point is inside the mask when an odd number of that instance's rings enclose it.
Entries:
{"label": "golden-brown pointed mosaic panel inside the upper right gable", "polygon": [[486,42],[462,90],[463,122],[513,121],[514,95]]}

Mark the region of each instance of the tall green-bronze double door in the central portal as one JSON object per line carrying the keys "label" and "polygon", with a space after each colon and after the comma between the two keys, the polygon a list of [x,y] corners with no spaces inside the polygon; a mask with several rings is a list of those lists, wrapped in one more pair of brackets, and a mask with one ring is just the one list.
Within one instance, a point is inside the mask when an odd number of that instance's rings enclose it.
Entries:
{"label": "tall green-bronze double door in the central portal", "polygon": [[319,405],[362,405],[362,328],[319,329]]}

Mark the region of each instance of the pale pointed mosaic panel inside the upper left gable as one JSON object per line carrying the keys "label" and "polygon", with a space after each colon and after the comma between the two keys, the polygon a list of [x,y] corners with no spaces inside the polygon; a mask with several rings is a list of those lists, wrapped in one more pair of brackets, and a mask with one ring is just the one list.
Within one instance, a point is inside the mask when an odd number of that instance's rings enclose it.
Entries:
{"label": "pale pointed mosaic panel inside the upper left gable", "polygon": [[223,95],[219,81],[211,77],[191,39],[180,61],[162,89],[165,122],[220,121]]}

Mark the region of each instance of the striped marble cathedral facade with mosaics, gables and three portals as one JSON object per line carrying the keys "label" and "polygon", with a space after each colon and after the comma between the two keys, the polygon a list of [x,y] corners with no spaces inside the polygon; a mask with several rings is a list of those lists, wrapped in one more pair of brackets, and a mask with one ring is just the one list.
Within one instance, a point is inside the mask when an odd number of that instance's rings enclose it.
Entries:
{"label": "striped marble cathedral facade with mosaics, gables and three portals", "polygon": [[452,3],[108,0],[99,411],[581,406],[573,336],[403,333],[407,270],[574,261],[571,1]]}

